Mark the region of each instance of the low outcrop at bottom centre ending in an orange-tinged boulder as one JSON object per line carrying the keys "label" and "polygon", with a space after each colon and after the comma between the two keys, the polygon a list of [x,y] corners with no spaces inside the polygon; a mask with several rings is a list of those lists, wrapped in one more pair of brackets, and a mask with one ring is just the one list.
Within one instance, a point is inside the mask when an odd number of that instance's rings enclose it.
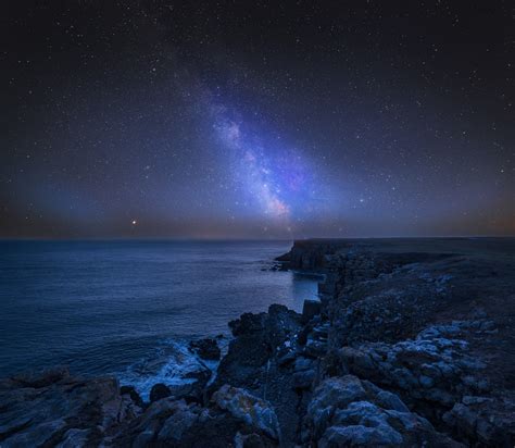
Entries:
{"label": "low outcrop at bottom centre ending in an orange-tinged boulder", "polygon": [[172,397],[155,401],[104,441],[115,447],[275,447],[279,431],[268,402],[225,385],[204,407]]}

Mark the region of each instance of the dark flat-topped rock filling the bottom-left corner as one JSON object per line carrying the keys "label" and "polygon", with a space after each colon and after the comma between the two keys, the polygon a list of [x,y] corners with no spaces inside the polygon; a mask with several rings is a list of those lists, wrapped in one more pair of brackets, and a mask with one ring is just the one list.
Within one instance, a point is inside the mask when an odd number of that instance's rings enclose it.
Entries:
{"label": "dark flat-topped rock filling the bottom-left corner", "polygon": [[116,379],[62,369],[0,382],[0,402],[2,447],[88,445],[141,412]]}

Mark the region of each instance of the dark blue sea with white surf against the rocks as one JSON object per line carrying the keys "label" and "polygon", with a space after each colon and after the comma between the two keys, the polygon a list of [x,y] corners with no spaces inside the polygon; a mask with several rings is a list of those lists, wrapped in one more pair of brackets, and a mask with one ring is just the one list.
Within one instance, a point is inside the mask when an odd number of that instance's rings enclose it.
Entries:
{"label": "dark blue sea with white surf against the rocks", "polygon": [[313,276],[272,272],[287,241],[0,241],[0,376],[68,365],[146,393],[197,362],[191,338],[316,297]]}

